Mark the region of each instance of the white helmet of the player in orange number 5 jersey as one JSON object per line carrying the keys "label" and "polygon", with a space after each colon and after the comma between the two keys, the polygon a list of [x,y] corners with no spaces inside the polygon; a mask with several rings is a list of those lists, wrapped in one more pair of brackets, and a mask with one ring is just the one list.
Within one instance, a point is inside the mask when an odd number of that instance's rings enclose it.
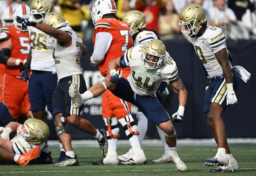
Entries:
{"label": "white helmet of the player in orange number 5 jersey", "polygon": [[29,6],[27,6],[26,4],[20,4],[15,8],[15,11],[13,13],[13,24],[15,28],[17,28],[20,31],[27,31],[28,30],[27,26],[23,27],[21,23],[17,22],[16,20],[17,16],[28,20],[29,17],[31,16]]}

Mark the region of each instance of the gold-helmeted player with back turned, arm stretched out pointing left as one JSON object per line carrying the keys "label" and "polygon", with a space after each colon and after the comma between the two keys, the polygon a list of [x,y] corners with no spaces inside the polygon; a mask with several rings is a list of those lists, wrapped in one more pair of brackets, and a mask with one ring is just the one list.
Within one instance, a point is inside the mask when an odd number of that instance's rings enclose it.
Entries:
{"label": "gold-helmeted player with back turned, arm stretched out pointing left", "polygon": [[108,150],[105,130],[96,130],[88,120],[80,118],[79,115],[83,108],[80,107],[79,111],[73,108],[68,94],[71,82],[80,85],[81,92],[87,90],[80,64],[81,56],[87,54],[87,47],[83,44],[79,34],[73,31],[65,21],[64,16],[58,12],[48,13],[42,23],[35,23],[20,17],[17,19],[23,26],[33,26],[43,31],[46,33],[44,38],[48,42],[54,43],[53,57],[58,75],[58,85],[52,97],[53,115],[55,117],[55,130],[64,147],[66,158],[61,162],[54,163],[53,166],[79,165],[71,145],[70,129],[67,122],[94,136],[99,142],[102,154],[105,155]]}

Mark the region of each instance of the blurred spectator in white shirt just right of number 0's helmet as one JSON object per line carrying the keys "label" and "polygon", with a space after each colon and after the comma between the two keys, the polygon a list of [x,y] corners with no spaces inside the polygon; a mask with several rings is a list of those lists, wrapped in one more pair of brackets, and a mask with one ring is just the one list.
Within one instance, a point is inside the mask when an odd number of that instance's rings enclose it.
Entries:
{"label": "blurred spectator in white shirt just right of number 0's helmet", "polygon": [[228,39],[231,28],[237,24],[236,15],[232,9],[227,7],[225,0],[213,0],[213,3],[215,6],[209,11],[208,24],[221,28]]}

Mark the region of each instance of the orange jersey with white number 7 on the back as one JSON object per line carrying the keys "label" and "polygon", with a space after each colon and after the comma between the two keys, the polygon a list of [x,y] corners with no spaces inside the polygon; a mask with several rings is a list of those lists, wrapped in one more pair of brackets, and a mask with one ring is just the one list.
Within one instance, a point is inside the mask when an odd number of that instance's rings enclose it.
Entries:
{"label": "orange jersey with white number 7 on the back", "polygon": [[[125,51],[133,45],[130,26],[128,23],[114,18],[103,18],[98,20],[93,32],[93,45],[95,43],[96,34],[99,32],[108,32],[112,35],[112,43],[108,52],[105,54],[104,60],[99,63],[99,71],[102,76],[106,76],[108,72],[108,63],[124,55]],[[127,70],[131,72],[130,68],[118,68],[117,70]]]}

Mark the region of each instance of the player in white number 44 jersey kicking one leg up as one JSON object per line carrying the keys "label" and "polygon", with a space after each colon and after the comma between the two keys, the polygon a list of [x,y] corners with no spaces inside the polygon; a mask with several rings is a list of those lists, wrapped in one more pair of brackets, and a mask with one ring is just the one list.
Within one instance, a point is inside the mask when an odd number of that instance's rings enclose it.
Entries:
{"label": "player in white number 44 jersey kicking one leg up", "polygon": [[[116,71],[116,68],[125,67],[131,68],[131,74],[127,79],[120,77]],[[84,101],[98,97],[109,89],[116,97],[136,105],[151,122],[165,132],[171,162],[175,163],[178,170],[186,171],[186,164],[177,154],[177,135],[172,121],[182,121],[187,91],[178,77],[176,63],[166,51],[163,42],[154,39],[145,45],[134,46],[125,51],[122,57],[112,60],[108,69],[111,76],[93,85],[84,94],[79,93],[76,84],[71,84],[69,93],[72,102],[81,105]],[[155,96],[155,92],[163,81],[170,82],[179,92],[179,108],[171,118]]]}

